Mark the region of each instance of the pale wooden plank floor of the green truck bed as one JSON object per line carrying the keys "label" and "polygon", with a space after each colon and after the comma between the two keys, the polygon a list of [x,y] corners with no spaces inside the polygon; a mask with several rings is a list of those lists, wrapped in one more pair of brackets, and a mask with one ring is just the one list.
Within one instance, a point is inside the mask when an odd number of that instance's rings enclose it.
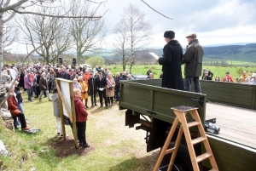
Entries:
{"label": "pale wooden plank floor of the green truck bed", "polygon": [[219,103],[207,103],[206,119],[216,118],[218,137],[256,148],[256,111]]}

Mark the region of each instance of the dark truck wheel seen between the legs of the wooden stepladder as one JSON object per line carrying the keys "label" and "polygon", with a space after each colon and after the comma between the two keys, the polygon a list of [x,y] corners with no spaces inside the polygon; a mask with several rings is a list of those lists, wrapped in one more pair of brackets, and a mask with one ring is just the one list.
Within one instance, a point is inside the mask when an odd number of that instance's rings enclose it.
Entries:
{"label": "dark truck wheel seen between the legs of the wooden stepladder", "polygon": [[[168,149],[173,148],[175,145],[175,141],[172,141],[168,147]],[[168,164],[171,160],[172,154],[168,154],[163,158],[163,161],[160,164],[160,170],[161,171],[165,171],[168,168]],[[188,147],[186,145],[186,141],[185,140],[181,140],[180,145],[178,147],[177,150],[177,155],[175,157],[175,161],[174,161],[175,166],[172,166],[172,171],[193,171],[193,167],[191,164],[191,160],[189,157],[189,150]],[[164,167],[165,168],[161,168]],[[176,168],[177,167],[177,168]]]}

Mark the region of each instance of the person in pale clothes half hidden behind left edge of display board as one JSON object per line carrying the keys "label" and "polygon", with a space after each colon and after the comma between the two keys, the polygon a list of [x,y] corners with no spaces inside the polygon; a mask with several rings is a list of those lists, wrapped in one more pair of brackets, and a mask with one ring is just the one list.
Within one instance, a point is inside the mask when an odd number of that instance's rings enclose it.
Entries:
{"label": "person in pale clothes half hidden behind left edge of display board", "polygon": [[54,109],[54,116],[56,117],[56,128],[57,128],[57,135],[62,134],[62,128],[61,128],[61,114],[60,114],[60,105],[59,105],[59,95],[57,88],[54,88],[53,94],[52,94],[52,100],[53,100],[53,109]]}

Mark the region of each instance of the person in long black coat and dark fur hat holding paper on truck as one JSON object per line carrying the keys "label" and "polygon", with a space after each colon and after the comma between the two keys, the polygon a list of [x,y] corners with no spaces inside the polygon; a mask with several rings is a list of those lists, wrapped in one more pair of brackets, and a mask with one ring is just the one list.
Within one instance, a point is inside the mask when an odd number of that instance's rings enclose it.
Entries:
{"label": "person in long black coat and dark fur hat holding paper on truck", "polygon": [[175,32],[166,31],[164,34],[166,45],[163,56],[156,61],[162,65],[162,87],[183,90],[183,77],[181,71],[181,60],[183,59],[183,48],[174,40]]}

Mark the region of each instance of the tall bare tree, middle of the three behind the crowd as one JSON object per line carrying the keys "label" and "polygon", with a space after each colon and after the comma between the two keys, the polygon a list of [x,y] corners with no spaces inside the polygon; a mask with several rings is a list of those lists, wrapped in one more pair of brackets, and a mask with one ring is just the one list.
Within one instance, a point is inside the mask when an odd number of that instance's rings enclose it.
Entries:
{"label": "tall bare tree, middle of the three behind the crowd", "polygon": [[[89,15],[95,16],[97,9],[92,9],[90,2],[83,0],[72,0],[73,9],[71,14],[73,16]],[[71,6],[71,5],[70,5]],[[99,7],[99,6],[98,6]],[[71,35],[75,43],[77,51],[77,62],[80,63],[84,58],[84,53],[95,51],[100,48],[103,38],[105,37],[104,20],[90,20],[90,19],[72,19]]]}

